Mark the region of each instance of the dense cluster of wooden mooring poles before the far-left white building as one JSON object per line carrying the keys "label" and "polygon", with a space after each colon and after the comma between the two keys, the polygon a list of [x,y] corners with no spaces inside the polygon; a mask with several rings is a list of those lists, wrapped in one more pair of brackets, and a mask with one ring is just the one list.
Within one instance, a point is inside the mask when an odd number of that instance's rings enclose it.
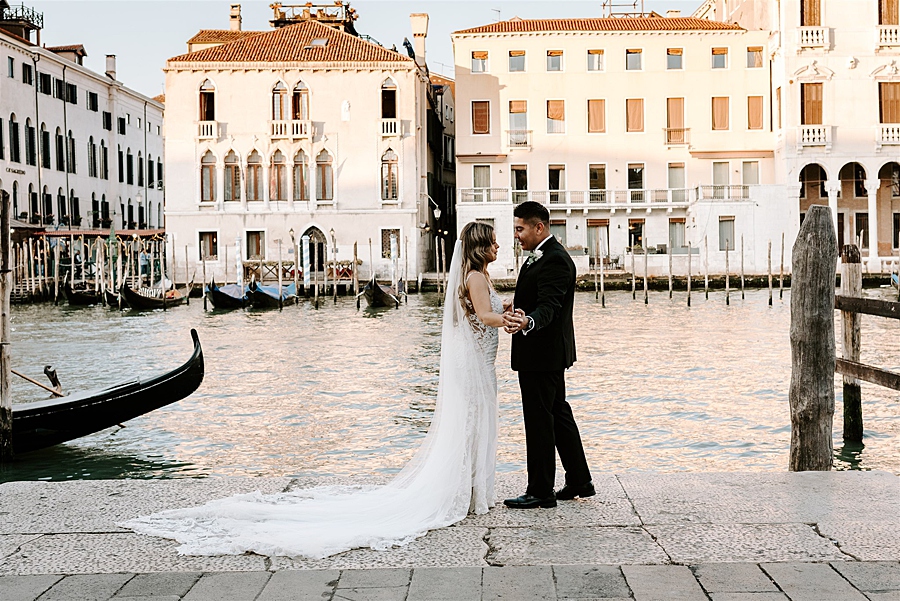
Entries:
{"label": "dense cluster of wooden mooring poles before the far-left white building", "polygon": [[[144,276],[149,276],[151,286],[160,279],[165,287],[166,245],[163,238],[116,237],[110,241],[97,237],[91,240],[74,233],[56,238],[55,244],[48,236],[29,238],[11,248],[12,284],[20,294],[32,298],[52,297],[54,302],[58,302],[60,288],[65,281],[81,289],[118,293],[122,283],[137,287]],[[67,264],[64,264],[62,256],[63,244],[68,246]],[[142,256],[146,257],[146,270],[142,269],[145,264]],[[79,267],[80,273],[77,271]],[[89,274],[89,271],[92,273]],[[89,275],[91,279],[88,279]]]}

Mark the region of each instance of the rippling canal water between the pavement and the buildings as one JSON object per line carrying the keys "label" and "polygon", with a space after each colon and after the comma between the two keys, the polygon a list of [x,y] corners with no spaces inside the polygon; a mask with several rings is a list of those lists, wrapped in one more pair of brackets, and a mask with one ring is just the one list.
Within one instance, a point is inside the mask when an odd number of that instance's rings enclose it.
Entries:
{"label": "rippling canal water between the pavement and the buildings", "polygon": [[[887,290],[867,291],[886,297]],[[437,294],[399,309],[311,303],[283,311],[168,312],[51,304],[12,312],[13,368],[68,391],[172,369],[200,334],[206,378],[191,397],[51,449],[20,455],[0,481],[200,476],[390,474],[413,455],[434,409],[440,355]],[[786,470],[790,445],[790,292],[702,291],[575,300],[578,362],[568,397],[595,472]],[[863,317],[862,361],[900,370],[900,323]],[[839,329],[837,330],[839,332]],[[40,377],[38,377],[40,376]],[[498,358],[498,470],[524,470],[518,384],[509,338]],[[837,379],[836,379],[837,382]],[[900,394],[863,384],[865,446],[841,440],[837,469],[900,474]],[[22,380],[16,401],[45,398]]]}

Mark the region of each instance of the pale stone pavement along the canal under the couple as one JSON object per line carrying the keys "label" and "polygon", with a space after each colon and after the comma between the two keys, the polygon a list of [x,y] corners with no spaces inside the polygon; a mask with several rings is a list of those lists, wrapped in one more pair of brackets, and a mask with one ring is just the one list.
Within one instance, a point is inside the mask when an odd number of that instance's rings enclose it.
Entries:
{"label": "pale stone pavement along the canal under the couple", "polygon": [[[900,479],[885,472],[603,474],[591,499],[501,505],[405,547],[323,560],[182,556],[173,541],[116,526],[231,494],[336,482],[347,480],[2,484],[0,601],[900,601]],[[498,476],[498,497],[524,482]]]}

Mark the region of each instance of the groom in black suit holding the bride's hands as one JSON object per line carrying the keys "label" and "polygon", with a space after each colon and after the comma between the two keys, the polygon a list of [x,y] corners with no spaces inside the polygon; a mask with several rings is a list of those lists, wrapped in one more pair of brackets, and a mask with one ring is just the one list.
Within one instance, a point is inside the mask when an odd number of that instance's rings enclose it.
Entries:
{"label": "groom in black suit holding the bride's hands", "polygon": [[[566,402],[565,370],[575,362],[575,264],[550,235],[550,212],[537,202],[513,211],[515,236],[531,251],[516,282],[514,310],[504,314],[512,337],[512,368],[519,374],[528,488],[506,499],[513,509],[556,507],[557,499],[594,495],[578,425]],[[554,494],[556,453],[566,484]]]}

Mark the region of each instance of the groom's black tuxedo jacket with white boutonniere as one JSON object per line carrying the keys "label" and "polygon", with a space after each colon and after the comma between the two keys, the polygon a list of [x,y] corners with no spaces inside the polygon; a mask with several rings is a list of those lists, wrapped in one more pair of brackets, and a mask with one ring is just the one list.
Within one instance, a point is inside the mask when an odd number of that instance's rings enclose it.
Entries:
{"label": "groom's black tuxedo jacket with white boutonniere", "polygon": [[559,371],[575,363],[575,263],[556,238],[540,250],[541,257],[524,265],[516,282],[513,304],[534,320],[534,328],[512,337],[515,371]]}

